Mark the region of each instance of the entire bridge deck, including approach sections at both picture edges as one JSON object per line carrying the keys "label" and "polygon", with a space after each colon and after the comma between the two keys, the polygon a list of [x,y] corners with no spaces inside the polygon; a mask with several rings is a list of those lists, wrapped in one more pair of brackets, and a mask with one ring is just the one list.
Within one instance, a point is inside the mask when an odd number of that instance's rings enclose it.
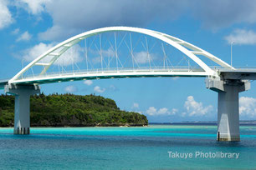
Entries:
{"label": "entire bridge deck, including approach sections at both picture edges", "polygon": [[[216,68],[215,71],[226,79],[246,79],[256,80],[256,68],[236,68],[230,70]],[[13,83],[19,84],[44,84],[52,82],[69,82],[85,79],[106,79],[106,78],[125,78],[125,77],[207,77],[207,72],[201,68],[141,68],[141,69],[122,69],[111,70],[90,70],[80,72],[51,72],[44,75],[31,75],[22,77]],[[0,89],[8,84],[9,79],[0,80]]]}

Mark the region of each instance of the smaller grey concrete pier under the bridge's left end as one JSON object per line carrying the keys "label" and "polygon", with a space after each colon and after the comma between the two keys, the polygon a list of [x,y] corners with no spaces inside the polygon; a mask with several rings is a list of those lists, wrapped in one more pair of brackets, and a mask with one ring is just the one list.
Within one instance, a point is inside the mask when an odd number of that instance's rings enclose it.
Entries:
{"label": "smaller grey concrete pier under the bridge's left end", "polygon": [[5,92],[15,96],[14,134],[30,133],[30,96],[40,92],[38,85],[5,86]]}

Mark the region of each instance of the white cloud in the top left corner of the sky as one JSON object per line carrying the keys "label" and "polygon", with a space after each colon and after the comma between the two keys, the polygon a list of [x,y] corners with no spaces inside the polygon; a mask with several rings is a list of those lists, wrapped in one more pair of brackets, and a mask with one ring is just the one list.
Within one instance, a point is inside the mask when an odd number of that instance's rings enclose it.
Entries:
{"label": "white cloud in the top left corner of the sky", "polygon": [[8,9],[8,1],[0,1],[0,29],[8,27],[13,23],[12,14]]}

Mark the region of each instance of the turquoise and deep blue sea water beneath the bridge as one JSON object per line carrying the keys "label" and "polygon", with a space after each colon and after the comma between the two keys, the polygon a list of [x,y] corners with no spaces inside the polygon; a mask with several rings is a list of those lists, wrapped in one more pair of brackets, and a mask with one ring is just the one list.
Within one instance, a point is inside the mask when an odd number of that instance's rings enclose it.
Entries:
{"label": "turquoise and deep blue sea water beneath the bridge", "polygon": [[[217,142],[216,126],[31,128],[28,136],[0,128],[1,169],[256,169],[256,127],[241,142]],[[169,158],[168,152],[192,158]],[[196,158],[196,152],[239,153]],[[205,156],[206,157],[206,156]]]}

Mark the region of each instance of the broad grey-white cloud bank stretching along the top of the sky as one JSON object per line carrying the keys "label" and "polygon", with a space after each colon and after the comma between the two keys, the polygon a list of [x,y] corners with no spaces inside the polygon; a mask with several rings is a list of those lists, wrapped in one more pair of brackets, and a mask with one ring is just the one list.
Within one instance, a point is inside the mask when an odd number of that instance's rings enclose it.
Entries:
{"label": "broad grey-white cloud bank stretching along the top of the sky", "polygon": [[64,40],[93,28],[120,25],[145,27],[156,18],[171,23],[184,13],[189,13],[192,18],[201,21],[203,28],[210,30],[226,28],[236,23],[256,23],[256,3],[251,0],[2,0],[0,29],[15,21],[15,14],[9,7],[23,9],[38,18],[43,13],[48,13],[53,25],[38,33],[40,40],[47,41]]}

